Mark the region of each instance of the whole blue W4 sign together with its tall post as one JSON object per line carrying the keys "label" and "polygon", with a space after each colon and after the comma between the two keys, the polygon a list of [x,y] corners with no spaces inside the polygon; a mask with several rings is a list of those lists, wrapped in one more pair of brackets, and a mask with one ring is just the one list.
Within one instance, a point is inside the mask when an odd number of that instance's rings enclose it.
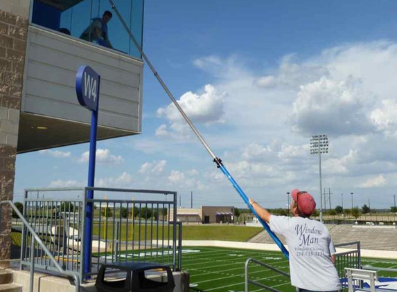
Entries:
{"label": "whole blue W4 sign together with its tall post", "polygon": [[[100,75],[89,66],[80,66],[76,74],[76,93],[78,102],[91,111],[91,134],[89,137],[89,166],[88,185],[94,187],[95,156],[96,156],[96,129],[98,127]],[[94,199],[94,191],[87,192],[87,199]],[[84,273],[91,272],[92,252],[92,219],[93,204],[87,203],[85,207],[85,234],[84,234]]]}

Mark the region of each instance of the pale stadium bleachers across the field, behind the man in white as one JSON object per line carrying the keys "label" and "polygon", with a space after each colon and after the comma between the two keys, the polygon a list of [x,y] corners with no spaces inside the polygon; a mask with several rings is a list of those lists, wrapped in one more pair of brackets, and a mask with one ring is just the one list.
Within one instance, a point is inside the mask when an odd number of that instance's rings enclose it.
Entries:
{"label": "pale stadium bleachers across the field, behind the man in white", "polygon": [[[326,225],[334,244],[360,241],[362,249],[397,250],[397,228],[381,228],[380,226]],[[285,239],[278,236],[285,244]],[[263,230],[249,239],[249,242],[274,244],[274,241]]]}

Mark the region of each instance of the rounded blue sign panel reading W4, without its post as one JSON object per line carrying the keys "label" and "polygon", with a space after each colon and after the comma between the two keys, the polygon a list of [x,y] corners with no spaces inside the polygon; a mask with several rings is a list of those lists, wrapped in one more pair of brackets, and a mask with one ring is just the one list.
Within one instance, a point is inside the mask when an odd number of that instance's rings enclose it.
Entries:
{"label": "rounded blue sign panel reading W4, without its post", "polygon": [[100,75],[90,66],[80,66],[76,74],[78,102],[91,111],[98,110]]}

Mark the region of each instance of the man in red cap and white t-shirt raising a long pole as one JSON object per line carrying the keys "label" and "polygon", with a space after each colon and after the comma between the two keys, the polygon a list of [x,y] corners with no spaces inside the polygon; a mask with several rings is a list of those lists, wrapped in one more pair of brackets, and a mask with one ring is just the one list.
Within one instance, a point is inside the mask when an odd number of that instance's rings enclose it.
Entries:
{"label": "man in red cap and white t-shirt raising a long pole", "polygon": [[249,203],[273,232],[285,237],[290,251],[291,284],[297,291],[340,291],[335,247],[323,223],[310,219],[316,202],[308,192],[292,190],[294,217],[276,216],[249,199]]}

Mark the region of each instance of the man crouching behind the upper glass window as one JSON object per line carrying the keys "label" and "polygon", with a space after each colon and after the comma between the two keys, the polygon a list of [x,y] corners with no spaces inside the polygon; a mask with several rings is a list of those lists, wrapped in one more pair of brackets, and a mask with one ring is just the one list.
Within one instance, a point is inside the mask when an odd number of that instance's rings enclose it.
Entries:
{"label": "man crouching behind the upper glass window", "polygon": [[103,12],[102,18],[95,17],[92,19],[91,24],[80,35],[80,39],[85,39],[88,42],[100,44],[107,48],[113,48],[107,35],[107,23],[112,19],[112,12],[106,10]]}

